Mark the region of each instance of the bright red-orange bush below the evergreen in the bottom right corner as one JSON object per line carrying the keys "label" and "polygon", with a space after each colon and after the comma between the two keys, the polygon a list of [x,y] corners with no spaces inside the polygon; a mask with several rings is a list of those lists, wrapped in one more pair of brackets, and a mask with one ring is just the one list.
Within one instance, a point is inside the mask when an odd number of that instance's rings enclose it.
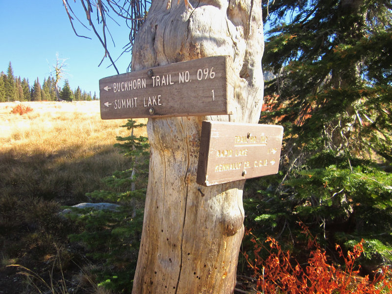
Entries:
{"label": "bright red-orange bush below the evergreen in the bottom right corner", "polygon": [[[268,238],[265,242],[269,246],[265,246],[251,232],[248,231],[247,234],[252,236],[255,259],[251,261],[246,253],[244,256],[257,279],[258,294],[380,294],[390,293],[392,290],[391,270],[388,267],[381,268],[373,281],[368,276],[359,276],[360,268],[354,269],[355,260],[364,251],[363,241],[346,255],[336,245],[345,264],[342,270],[327,261],[325,252],[315,239],[309,239],[308,249],[311,248],[309,246],[315,246],[316,249],[310,252],[307,265],[301,267],[290,251],[282,251],[276,240]],[[265,260],[259,255],[262,248],[269,252]]]}

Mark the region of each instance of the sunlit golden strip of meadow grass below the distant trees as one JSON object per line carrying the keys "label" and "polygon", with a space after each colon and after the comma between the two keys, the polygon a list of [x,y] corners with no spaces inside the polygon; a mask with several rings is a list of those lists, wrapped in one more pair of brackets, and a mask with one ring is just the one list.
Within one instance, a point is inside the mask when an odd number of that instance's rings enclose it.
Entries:
{"label": "sunlit golden strip of meadow grass below the distant trees", "polygon": [[[12,114],[14,102],[0,103],[0,152],[7,148],[59,148],[59,143],[76,146],[97,146],[115,143],[116,135],[126,135],[119,127],[126,120],[103,121],[99,101],[23,102],[33,111]],[[146,133],[144,133],[146,135]]]}

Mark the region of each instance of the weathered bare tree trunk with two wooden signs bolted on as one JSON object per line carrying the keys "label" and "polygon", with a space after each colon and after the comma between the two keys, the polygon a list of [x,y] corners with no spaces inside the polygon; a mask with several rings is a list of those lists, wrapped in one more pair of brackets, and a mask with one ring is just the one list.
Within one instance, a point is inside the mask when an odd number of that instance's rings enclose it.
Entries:
{"label": "weathered bare tree trunk with two wooden signs bolted on", "polygon": [[[230,55],[236,113],[149,119],[151,157],[133,294],[234,292],[244,234],[245,181],[196,184],[201,122],[257,123],[263,103],[260,0],[152,2],[133,47],[132,69]],[[184,98],[186,103],[186,98]]]}

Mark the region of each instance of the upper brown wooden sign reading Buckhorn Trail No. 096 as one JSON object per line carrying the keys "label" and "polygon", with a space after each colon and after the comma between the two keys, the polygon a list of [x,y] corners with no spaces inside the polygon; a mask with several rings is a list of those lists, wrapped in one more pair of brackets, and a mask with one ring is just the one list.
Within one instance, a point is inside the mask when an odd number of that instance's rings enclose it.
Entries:
{"label": "upper brown wooden sign reading Buckhorn Trail No. 096", "polygon": [[101,119],[231,114],[228,56],[213,56],[99,80]]}

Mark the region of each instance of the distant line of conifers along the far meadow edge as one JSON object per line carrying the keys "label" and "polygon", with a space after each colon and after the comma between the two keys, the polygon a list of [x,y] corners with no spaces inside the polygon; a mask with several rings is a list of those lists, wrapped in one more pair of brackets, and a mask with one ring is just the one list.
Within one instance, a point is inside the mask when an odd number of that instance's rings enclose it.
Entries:
{"label": "distant line of conifers along the far meadow edge", "polygon": [[[41,83],[37,77],[30,86],[28,79],[14,76],[11,62],[8,64],[7,73],[0,73],[0,102],[7,101],[52,101],[56,100],[54,78],[49,76]],[[78,86],[74,91],[70,88],[68,80],[64,81],[60,89],[60,99],[73,100],[97,100],[97,95],[82,91]]]}

